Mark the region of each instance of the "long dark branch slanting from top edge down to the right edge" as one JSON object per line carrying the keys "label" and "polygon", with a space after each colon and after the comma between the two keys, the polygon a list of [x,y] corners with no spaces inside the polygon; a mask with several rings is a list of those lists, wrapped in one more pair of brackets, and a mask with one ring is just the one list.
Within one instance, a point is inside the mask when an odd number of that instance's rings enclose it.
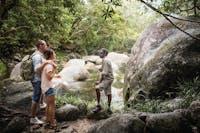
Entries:
{"label": "long dark branch slanting from top edge down to the right edge", "polygon": [[149,3],[143,1],[143,0],[139,0],[140,2],[144,3],[146,6],[148,6],[149,8],[151,8],[152,10],[154,10],[155,12],[161,14],[165,19],[167,19],[174,27],[176,27],[178,30],[182,31],[183,33],[187,34],[188,36],[192,37],[193,39],[196,39],[198,41],[200,41],[200,38],[195,37],[193,35],[191,35],[190,33],[182,30],[180,27],[178,27],[176,24],[174,24],[168,17],[167,15],[165,15],[164,13],[162,13],[160,10],[156,9],[155,7],[153,7],[152,5],[150,5]]}

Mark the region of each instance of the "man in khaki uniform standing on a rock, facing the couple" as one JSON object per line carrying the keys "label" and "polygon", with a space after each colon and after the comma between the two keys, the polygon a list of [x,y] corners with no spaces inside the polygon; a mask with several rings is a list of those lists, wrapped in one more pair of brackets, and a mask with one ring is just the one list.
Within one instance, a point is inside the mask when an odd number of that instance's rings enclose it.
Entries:
{"label": "man in khaki uniform standing on a rock, facing the couple", "polygon": [[93,109],[93,112],[99,112],[101,111],[101,105],[100,105],[100,98],[101,98],[101,90],[104,90],[105,95],[108,98],[108,108],[107,111],[108,113],[112,113],[111,111],[111,100],[112,100],[112,94],[111,94],[111,85],[114,80],[113,77],[113,70],[112,70],[112,65],[109,60],[107,60],[105,57],[108,55],[108,50],[105,48],[102,48],[98,51],[98,55],[100,58],[102,58],[102,67],[99,69],[100,70],[100,78],[99,81],[96,82],[96,96],[97,96],[97,105]]}

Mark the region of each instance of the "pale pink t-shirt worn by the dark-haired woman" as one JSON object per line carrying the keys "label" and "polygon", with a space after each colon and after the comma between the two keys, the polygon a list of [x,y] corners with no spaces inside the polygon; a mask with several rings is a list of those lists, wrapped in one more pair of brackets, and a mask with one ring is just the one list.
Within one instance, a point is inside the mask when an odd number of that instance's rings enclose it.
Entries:
{"label": "pale pink t-shirt worn by the dark-haired woman", "polygon": [[47,64],[43,68],[42,71],[42,82],[41,82],[41,88],[42,88],[42,93],[44,94],[49,88],[53,87],[53,82],[52,80],[48,79],[47,73],[54,71],[53,65],[52,64]]}

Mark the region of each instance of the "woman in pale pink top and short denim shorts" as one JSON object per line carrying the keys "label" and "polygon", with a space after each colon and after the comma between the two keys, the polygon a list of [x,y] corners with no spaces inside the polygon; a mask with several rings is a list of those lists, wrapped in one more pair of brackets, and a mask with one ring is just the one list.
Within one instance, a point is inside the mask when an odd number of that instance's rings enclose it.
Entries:
{"label": "woman in pale pink top and short denim shorts", "polygon": [[53,78],[61,78],[56,74],[57,67],[53,62],[56,58],[55,52],[52,49],[46,49],[44,51],[44,57],[47,61],[51,62],[46,64],[42,71],[42,94],[46,96],[46,123],[50,124],[50,128],[55,129],[55,89],[53,88]]}

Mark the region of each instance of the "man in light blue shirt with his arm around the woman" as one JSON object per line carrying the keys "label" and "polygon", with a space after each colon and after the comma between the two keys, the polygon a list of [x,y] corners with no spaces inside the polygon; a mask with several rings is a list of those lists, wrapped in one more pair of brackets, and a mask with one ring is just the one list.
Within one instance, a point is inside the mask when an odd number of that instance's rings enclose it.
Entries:
{"label": "man in light blue shirt with his arm around the woman", "polygon": [[44,122],[36,117],[36,111],[41,100],[41,71],[48,63],[44,60],[43,52],[47,48],[44,40],[38,40],[36,43],[37,50],[32,55],[32,62],[34,68],[34,79],[31,81],[33,86],[33,99],[31,105],[31,124],[43,124]]}

